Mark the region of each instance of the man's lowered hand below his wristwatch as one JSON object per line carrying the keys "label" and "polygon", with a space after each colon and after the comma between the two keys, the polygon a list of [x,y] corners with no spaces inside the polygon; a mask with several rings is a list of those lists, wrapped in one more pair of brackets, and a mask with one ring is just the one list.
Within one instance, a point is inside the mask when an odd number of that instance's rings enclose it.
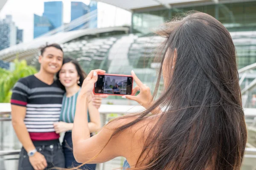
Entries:
{"label": "man's lowered hand below his wristwatch", "polygon": [[34,156],[29,156],[29,161],[35,170],[44,170],[47,167],[47,161],[39,152],[36,152]]}

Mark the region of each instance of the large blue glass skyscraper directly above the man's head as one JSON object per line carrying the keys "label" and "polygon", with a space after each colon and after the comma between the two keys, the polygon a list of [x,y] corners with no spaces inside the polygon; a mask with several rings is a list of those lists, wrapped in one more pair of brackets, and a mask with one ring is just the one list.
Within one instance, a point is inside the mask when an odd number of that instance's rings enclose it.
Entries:
{"label": "large blue glass skyscraper directly above the man's head", "polygon": [[34,38],[58,28],[63,24],[63,3],[52,1],[44,3],[43,16],[34,14]]}

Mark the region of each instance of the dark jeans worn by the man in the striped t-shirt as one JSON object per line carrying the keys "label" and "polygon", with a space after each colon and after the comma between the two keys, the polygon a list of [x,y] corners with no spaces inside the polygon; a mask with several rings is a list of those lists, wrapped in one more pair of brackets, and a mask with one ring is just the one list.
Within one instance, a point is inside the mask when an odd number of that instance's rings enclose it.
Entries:
{"label": "dark jeans worn by the man in the striped t-shirt", "polygon": [[[65,158],[60,144],[41,145],[35,148],[44,155],[47,161],[45,170],[52,167],[65,167]],[[34,170],[29,162],[29,156],[23,147],[20,150],[18,170]]]}

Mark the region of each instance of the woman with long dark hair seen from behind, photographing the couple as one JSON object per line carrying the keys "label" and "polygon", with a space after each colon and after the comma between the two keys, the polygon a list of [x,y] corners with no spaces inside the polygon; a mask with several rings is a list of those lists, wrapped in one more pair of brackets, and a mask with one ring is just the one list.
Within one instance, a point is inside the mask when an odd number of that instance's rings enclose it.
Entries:
{"label": "woman with long dark hair seen from behind, photographing the couple", "polygon": [[117,156],[138,170],[240,170],[247,130],[241,105],[236,51],[227,29],[201,12],[166,23],[157,79],[158,99],[132,75],[133,99],[146,110],[109,122],[90,138],[87,105],[97,74],[88,74],[76,105],[73,152],[77,161],[99,163]]}

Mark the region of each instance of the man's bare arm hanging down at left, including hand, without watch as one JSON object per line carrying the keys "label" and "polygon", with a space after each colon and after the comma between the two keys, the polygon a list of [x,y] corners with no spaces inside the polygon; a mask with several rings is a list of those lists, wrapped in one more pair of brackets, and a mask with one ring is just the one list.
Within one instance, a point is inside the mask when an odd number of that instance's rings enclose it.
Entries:
{"label": "man's bare arm hanging down at left, including hand, without watch", "polygon": [[[29,152],[34,150],[35,146],[24,123],[25,116],[26,107],[12,105],[12,126],[21,144]],[[29,161],[35,170],[44,170],[47,167],[45,157],[39,152],[36,152],[34,156],[29,156]]]}

